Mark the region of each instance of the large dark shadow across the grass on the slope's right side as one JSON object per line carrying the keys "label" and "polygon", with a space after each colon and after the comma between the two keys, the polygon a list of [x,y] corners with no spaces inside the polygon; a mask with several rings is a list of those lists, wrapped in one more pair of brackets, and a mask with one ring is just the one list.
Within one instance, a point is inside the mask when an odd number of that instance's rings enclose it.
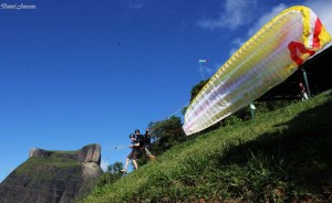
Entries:
{"label": "large dark shadow across the grass on the slope's right side", "polygon": [[[238,170],[230,172],[231,179],[239,180],[229,183],[228,190],[235,193],[249,190],[248,195],[257,200],[271,200],[267,195],[279,193],[288,201],[312,196],[319,202],[331,201],[332,101],[274,127],[274,133],[229,146],[218,158],[220,172]],[[236,184],[238,182],[242,183]],[[270,190],[270,194],[264,190]]]}

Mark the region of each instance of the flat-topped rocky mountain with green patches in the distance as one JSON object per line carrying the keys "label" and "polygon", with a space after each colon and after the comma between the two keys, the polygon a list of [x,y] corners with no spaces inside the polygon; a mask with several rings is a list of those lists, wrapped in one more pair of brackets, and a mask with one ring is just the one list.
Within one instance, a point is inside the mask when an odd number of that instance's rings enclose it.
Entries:
{"label": "flat-topped rocky mountain with green patches in the distance", "polygon": [[1,203],[66,203],[89,192],[101,175],[101,146],[77,151],[31,149],[0,184]]}

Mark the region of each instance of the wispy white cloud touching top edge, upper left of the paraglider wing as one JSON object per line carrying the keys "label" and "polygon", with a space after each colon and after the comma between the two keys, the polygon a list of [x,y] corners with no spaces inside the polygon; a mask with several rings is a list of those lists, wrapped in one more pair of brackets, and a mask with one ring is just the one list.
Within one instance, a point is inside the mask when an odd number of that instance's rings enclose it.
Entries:
{"label": "wispy white cloud touching top edge, upper left of the paraglider wing", "polygon": [[201,28],[215,30],[219,28],[237,29],[250,22],[250,11],[252,11],[255,1],[248,0],[226,0],[219,18],[200,19],[198,25]]}

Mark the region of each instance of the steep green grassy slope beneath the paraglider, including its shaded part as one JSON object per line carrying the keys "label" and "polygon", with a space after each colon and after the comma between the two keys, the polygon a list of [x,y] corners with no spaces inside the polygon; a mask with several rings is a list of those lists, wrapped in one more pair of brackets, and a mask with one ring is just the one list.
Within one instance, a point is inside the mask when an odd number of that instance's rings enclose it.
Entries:
{"label": "steep green grassy slope beneath the paraglider, including its shaded part", "polygon": [[332,93],[172,148],[84,202],[332,201]]}

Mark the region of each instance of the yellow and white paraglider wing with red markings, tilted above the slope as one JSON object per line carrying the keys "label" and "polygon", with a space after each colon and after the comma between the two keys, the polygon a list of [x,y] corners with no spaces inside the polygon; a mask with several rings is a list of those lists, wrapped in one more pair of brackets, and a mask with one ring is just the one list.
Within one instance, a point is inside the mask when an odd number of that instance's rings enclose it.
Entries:
{"label": "yellow and white paraglider wing with red markings, tilted above the slope", "polygon": [[309,8],[282,11],[247,41],[189,105],[183,126],[199,132],[283,82],[331,36]]}

